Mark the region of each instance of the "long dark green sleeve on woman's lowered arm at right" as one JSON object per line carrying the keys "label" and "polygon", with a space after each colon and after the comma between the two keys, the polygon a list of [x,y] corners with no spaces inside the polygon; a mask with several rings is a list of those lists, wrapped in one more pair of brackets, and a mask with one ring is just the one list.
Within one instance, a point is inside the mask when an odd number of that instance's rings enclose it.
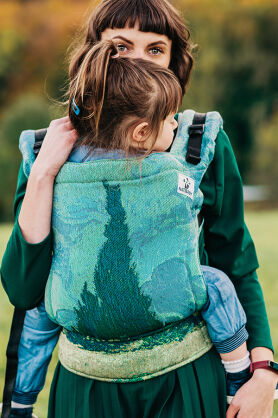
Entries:
{"label": "long dark green sleeve on woman's lowered arm at right", "polygon": [[204,228],[200,258],[224,271],[232,280],[247,316],[248,349],[273,351],[262,289],[256,269],[254,243],[244,222],[242,180],[229,138],[223,129],[216,139],[215,156],[201,190],[204,194]]}

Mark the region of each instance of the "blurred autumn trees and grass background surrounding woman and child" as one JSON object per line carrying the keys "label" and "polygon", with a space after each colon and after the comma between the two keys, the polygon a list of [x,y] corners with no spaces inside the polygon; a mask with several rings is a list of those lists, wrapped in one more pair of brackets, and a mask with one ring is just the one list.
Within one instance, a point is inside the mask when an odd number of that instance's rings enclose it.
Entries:
{"label": "blurred autumn trees and grass background surrounding woman and child", "polygon": [[[11,230],[12,202],[21,161],[20,132],[47,127],[51,119],[63,116],[53,99],[61,100],[66,89],[68,47],[80,34],[81,24],[96,3],[1,0],[0,258]],[[172,3],[182,12],[191,31],[191,41],[197,45],[183,108],[219,111],[244,183],[265,186],[269,193],[266,200],[246,206],[277,348],[278,2],[175,0]],[[1,393],[11,312],[2,289],[0,301]],[[51,373],[48,383],[50,377]],[[48,385],[37,407],[40,418],[46,417],[47,391]],[[276,411],[274,416],[278,417],[277,407]]]}

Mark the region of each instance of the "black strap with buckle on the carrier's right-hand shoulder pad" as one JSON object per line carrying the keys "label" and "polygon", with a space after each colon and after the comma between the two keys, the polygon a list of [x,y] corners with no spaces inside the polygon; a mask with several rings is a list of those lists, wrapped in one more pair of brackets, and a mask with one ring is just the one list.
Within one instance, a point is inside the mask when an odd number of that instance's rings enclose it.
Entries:
{"label": "black strap with buckle on the carrier's right-hand shoulder pad", "polygon": [[201,161],[201,148],[203,133],[205,130],[206,113],[195,112],[192,125],[189,126],[189,139],[186,153],[186,161],[197,165]]}

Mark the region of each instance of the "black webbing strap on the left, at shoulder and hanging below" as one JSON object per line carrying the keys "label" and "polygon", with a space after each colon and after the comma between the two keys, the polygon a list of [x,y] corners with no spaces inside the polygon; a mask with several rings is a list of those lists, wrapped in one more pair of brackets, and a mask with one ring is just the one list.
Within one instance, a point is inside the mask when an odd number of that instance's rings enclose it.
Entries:
{"label": "black webbing strap on the left, at shoulder and hanging below", "polygon": [[[38,129],[35,131],[35,143],[33,151],[37,157],[47,129]],[[26,311],[23,309],[14,309],[10,338],[6,351],[7,366],[5,374],[5,384],[3,391],[3,406],[1,418],[8,418],[11,413],[12,395],[16,382],[17,368],[18,368],[18,346],[22,334]]]}

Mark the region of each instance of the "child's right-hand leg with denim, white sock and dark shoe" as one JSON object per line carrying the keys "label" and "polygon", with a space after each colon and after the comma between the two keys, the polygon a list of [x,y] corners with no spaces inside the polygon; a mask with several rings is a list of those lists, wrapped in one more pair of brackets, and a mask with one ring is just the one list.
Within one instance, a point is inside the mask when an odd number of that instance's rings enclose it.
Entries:
{"label": "child's right-hand leg with denim, white sock and dark shoe", "polygon": [[226,274],[207,266],[202,266],[202,270],[208,301],[201,312],[227,373],[227,395],[230,402],[236,391],[251,377],[246,345],[246,315]]}

